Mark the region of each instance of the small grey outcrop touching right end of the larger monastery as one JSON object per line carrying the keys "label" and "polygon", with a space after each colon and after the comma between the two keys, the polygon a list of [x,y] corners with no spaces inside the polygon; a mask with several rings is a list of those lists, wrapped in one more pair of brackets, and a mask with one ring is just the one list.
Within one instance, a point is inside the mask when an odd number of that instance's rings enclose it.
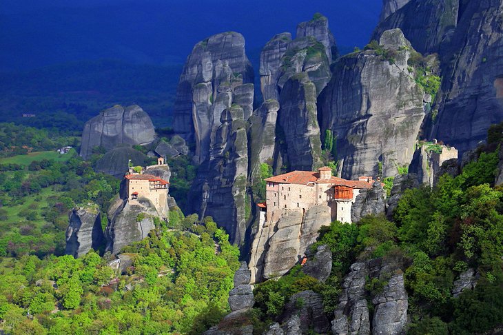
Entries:
{"label": "small grey outcrop touching right end of the larger monastery", "polygon": [[351,206],[351,222],[358,222],[367,215],[386,212],[386,191],[380,181],[373,183],[371,189],[362,189]]}

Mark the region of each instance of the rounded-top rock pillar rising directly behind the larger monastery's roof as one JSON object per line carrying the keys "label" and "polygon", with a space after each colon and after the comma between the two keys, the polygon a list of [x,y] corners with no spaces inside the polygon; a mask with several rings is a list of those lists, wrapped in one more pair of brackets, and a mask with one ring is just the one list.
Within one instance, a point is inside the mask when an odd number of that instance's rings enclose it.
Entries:
{"label": "rounded-top rock pillar rising directly behind the larger monastery's roof", "polygon": [[292,76],[280,94],[278,123],[285,136],[289,170],[311,171],[320,165],[321,141],[316,86],[306,72]]}

